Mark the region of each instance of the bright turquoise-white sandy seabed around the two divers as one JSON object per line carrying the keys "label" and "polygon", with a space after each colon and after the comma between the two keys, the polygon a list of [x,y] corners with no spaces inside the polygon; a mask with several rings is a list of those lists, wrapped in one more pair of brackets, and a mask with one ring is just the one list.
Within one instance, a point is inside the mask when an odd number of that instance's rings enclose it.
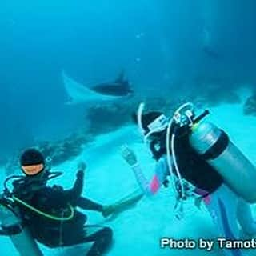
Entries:
{"label": "bright turquoise-white sandy seabed around the two divers", "polygon": [[[210,109],[209,121],[214,122],[230,135],[230,139],[250,161],[255,163],[256,118],[242,114],[242,105],[223,104]],[[72,162],[65,162],[54,168],[62,170],[63,175],[54,183],[65,188],[72,186],[77,162],[87,163],[86,185],[83,195],[94,201],[109,204],[138,189],[130,167],[119,154],[119,147],[128,144],[138,154],[144,173],[150,178],[154,172],[154,161],[139,138],[135,126],[124,126],[110,134],[98,136],[96,141],[83,150]],[[4,171],[1,172],[3,174]],[[3,180],[3,177],[0,177]],[[217,230],[206,209],[198,210],[193,200],[186,202],[185,218],[178,221],[173,214],[174,198],[170,189],[162,190],[152,198],[142,198],[136,206],[122,212],[115,218],[104,219],[101,214],[86,212],[88,224],[110,226],[114,230],[114,243],[106,255],[110,256],[202,256],[222,255],[222,251],[194,249],[160,248],[163,237],[174,239],[212,239],[218,236]],[[255,206],[252,205],[254,213]],[[9,238],[0,238],[0,255],[18,255]],[[44,255],[86,255],[88,245],[49,250],[42,246]],[[254,255],[252,252],[248,255]],[[246,254],[245,254],[246,255]],[[31,255],[32,256],[32,255]]]}

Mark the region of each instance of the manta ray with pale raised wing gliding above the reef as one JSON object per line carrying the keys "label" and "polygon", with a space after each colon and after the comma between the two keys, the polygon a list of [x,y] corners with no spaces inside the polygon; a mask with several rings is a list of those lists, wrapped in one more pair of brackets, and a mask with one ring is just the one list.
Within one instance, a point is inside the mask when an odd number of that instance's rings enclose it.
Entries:
{"label": "manta ray with pale raised wing gliding above the reef", "polygon": [[111,101],[118,98],[125,98],[134,94],[130,83],[124,78],[124,72],[119,74],[113,82],[103,82],[95,86],[84,86],[70,78],[62,70],[62,80],[69,101],[66,104],[80,104],[86,102]]}

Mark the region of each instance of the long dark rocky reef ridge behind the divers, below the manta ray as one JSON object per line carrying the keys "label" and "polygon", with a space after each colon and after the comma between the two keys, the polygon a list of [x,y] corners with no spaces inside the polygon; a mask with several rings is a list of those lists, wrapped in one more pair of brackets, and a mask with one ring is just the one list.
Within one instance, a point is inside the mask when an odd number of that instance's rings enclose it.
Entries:
{"label": "long dark rocky reef ridge behind the divers, below the manta ray", "polygon": [[[193,93],[194,91],[190,90],[186,94],[184,92],[182,96],[176,90],[169,90],[162,96],[151,95],[145,98],[136,96],[120,102],[102,102],[101,104],[90,106],[86,110],[84,126],[80,130],[57,141],[35,142],[34,147],[42,151],[42,154],[46,157],[49,156],[53,165],[58,165],[78,156],[83,146],[92,142],[98,134],[105,134],[126,124],[131,124],[131,115],[138,110],[140,102],[146,103],[146,112],[158,110],[168,116],[173,114],[174,110],[185,102],[194,102],[199,107],[215,106],[220,102],[240,102],[240,98],[235,91],[224,90],[220,94],[218,89],[218,86],[208,86],[207,89],[200,90],[200,94]],[[244,109],[245,114],[256,115],[255,95],[248,98]],[[14,170],[18,170],[18,158],[23,150],[18,150],[18,154],[14,154],[9,159],[6,164],[6,174],[10,175],[14,173]]]}

